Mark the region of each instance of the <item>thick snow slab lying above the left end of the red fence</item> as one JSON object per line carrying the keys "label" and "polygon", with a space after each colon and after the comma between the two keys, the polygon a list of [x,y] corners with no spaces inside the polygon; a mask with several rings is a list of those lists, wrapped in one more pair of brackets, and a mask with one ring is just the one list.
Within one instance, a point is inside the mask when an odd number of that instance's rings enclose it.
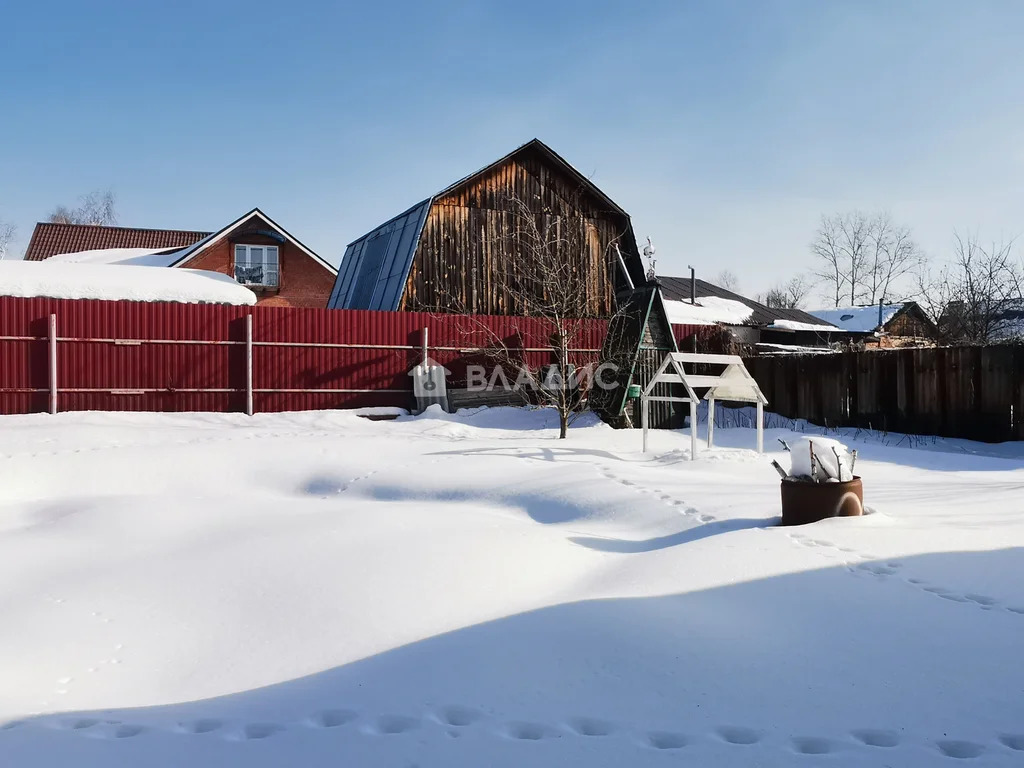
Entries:
{"label": "thick snow slab lying above the left end of the red fence", "polygon": [[256,294],[220,272],[46,261],[0,261],[0,296],[182,304],[256,303]]}

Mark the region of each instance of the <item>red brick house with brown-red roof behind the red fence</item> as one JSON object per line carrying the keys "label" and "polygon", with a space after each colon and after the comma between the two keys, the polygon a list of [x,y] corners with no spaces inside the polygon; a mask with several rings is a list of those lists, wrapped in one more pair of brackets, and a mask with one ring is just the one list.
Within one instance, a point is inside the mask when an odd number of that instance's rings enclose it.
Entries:
{"label": "red brick house with brown-red roof behind the red fence", "polygon": [[338,274],[258,208],[215,232],[40,222],[25,258],[223,272],[262,306],[324,307]]}

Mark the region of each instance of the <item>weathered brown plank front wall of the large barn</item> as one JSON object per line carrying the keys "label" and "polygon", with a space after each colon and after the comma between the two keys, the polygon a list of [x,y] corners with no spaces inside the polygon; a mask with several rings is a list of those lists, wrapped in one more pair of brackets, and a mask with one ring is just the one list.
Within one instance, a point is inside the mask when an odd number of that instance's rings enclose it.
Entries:
{"label": "weathered brown plank front wall of the large barn", "polygon": [[[627,262],[640,263],[629,218],[581,188],[579,179],[523,153],[452,194],[435,199],[427,214],[400,304],[404,310],[484,314],[522,314],[513,281],[528,283],[537,274],[510,274],[516,248],[511,237],[517,206],[525,203],[543,227],[556,217],[583,213],[580,232],[586,243],[566,255],[573,281],[581,284],[584,316],[607,317],[616,289],[626,288],[613,244]],[[575,250],[575,253],[571,251]]]}

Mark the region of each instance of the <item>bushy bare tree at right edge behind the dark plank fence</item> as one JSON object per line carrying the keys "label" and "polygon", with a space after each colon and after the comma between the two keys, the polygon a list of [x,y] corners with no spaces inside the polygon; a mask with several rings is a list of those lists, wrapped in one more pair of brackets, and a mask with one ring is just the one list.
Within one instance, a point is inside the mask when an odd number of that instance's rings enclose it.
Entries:
{"label": "bushy bare tree at right edge behind the dark plank fence", "polygon": [[1013,242],[981,245],[953,233],[953,258],[937,273],[918,272],[918,301],[950,341],[985,344],[1006,337],[1024,309],[1024,270]]}

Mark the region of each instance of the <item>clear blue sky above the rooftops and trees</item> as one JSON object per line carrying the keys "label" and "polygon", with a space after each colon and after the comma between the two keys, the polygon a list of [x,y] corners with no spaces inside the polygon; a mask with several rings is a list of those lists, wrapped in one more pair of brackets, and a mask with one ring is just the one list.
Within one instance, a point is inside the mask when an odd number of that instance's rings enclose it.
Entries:
{"label": "clear blue sky above the rooftops and trees", "polygon": [[0,219],[93,189],[128,226],[259,206],[333,261],[535,136],[658,269],[805,269],[823,213],[936,258],[1024,232],[1024,4],[19,2],[0,46]]}

